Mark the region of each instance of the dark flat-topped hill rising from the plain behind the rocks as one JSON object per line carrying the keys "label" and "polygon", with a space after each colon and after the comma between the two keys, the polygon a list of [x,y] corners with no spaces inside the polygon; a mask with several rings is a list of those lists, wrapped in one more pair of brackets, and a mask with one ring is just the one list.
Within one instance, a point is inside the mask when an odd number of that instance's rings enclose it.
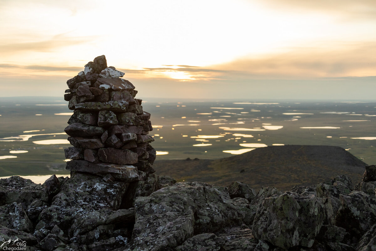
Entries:
{"label": "dark flat-topped hill rising from the plain behind the rocks", "polygon": [[274,186],[286,191],[295,185],[313,185],[341,174],[348,175],[356,184],[366,165],[341,147],[284,145],[217,160],[157,160],[153,166],[156,174],[170,175],[177,181],[227,186],[238,180],[254,189]]}

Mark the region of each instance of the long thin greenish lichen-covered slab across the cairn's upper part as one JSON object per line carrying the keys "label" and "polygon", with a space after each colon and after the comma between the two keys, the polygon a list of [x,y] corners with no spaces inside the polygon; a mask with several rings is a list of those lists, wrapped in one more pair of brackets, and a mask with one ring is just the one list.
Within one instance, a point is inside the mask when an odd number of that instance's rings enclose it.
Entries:
{"label": "long thin greenish lichen-covered slab across the cairn's upper part", "polygon": [[76,110],[91,112],[111,110],[112,112],[126,112],[128,102],[126,101],[106,101],[106,102],[85,102],[78,103],[75,106]]}

